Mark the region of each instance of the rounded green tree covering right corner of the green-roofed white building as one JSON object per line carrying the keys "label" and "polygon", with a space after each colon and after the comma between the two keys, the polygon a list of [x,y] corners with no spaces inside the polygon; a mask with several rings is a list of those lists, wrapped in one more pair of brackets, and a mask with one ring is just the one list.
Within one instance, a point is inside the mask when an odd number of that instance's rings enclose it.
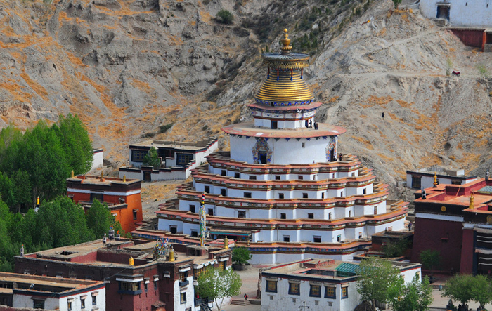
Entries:
{"label": "rounded green tree covering right corner of the green-roofed white building", "polygon": [[388,260],[369,257],[359,265],[357,291],[363,300],[368,300],[375,310],[376,300],[387,303],[397,296],[403,284],[400,270]]}

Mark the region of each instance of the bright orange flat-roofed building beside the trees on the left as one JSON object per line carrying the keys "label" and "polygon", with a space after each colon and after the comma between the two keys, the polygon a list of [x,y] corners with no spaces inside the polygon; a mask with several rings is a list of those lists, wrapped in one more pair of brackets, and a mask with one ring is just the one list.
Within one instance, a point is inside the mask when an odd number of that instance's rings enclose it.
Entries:
{"label": "bright orange flat-roofed building beside the trees on the left", "polygon": [[108,205],[113,216],[126,232],[135,230],[142,221],[141,180],[125,177],[79,175],[67,178],[67,197],[91,208],[94,199]]}

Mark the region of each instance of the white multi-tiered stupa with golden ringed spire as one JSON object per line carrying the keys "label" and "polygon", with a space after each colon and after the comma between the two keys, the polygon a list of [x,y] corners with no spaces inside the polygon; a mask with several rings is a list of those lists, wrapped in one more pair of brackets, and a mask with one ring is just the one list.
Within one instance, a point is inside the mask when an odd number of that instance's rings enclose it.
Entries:
{"label": "white multi-tiered stupa with golden ringed spire", "polygon": [[345,129],[316,124],[303,70],[309,55],[290,53],[287,30],[280,53],[262,55],[266,80],[249,105],[254,122],[222,130],[231,152],[207,157],[193,184],[157,211],[159,230],[198,236],[205,195],[211,239],[248,247],[251,263],[304,258],[350,260],[384,230],[403,230],[407,203],[387,202],[387,185],[350,154],[337,156]]}

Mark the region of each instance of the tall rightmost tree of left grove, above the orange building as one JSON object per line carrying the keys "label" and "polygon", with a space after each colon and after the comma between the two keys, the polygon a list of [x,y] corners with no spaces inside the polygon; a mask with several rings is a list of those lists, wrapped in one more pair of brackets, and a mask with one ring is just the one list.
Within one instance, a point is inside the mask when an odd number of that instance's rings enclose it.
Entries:
{"label": "tall rightmost tree of left grove, above the orange building", "polygon": [[68,166],[76,175],[87,173],[92,166],[92,142],[82,121],[77,115],[60,115],[51,129],[60,140]]}

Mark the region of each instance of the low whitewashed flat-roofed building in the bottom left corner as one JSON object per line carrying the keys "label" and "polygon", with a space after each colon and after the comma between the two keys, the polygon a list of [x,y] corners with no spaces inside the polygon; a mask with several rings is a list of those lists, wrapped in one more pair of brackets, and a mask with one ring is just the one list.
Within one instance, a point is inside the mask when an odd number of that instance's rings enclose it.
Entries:
{"label": "low whitewashed flat-roofed building in the bottom left corner", "polygon": [[0,272],[0,288],[11,309],[106,310],[104,282]]}

